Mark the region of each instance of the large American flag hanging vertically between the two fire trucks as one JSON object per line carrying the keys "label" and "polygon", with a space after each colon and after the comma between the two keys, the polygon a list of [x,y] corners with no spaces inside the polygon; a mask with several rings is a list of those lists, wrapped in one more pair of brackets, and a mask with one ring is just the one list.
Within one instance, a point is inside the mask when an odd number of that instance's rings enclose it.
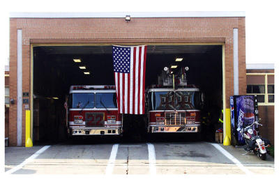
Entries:
{"label": "large American flag hanging vertically between the two fire trucks", "polygon": [[146,45],[112,46],[120,114],[144,114]]}

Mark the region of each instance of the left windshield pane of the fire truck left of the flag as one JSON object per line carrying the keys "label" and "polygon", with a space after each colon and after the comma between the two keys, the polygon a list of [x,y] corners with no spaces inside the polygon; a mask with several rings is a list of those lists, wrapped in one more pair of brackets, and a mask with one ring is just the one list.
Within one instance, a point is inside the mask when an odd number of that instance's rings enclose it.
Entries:
{"label": "left windshield pane of the fire truck left of the flag", "polygon": [[93,108],[95,101],[94,93],[73,93],[73,105],[72,108],[83,109]]}

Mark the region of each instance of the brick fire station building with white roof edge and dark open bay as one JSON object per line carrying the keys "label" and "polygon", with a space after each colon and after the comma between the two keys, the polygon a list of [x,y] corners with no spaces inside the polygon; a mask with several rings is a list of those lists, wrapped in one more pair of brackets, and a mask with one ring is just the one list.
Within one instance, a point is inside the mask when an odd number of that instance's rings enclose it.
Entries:
{"label": "brick fire station building with white roof edge and dark open bay", "polygon": [[112,45],[147,45],[146,87],[165,66],[188,66],[218,119],[230,95],[246,95],[245,21],[243,12],[11,13],[9,146],[24,146],[26,110],[33,143],[61,140],[70,86],[114,85]]}

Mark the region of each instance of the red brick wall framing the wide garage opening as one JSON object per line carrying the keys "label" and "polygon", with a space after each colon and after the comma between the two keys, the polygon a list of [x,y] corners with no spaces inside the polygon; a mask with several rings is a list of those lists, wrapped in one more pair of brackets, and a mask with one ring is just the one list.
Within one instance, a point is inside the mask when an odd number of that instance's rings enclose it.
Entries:
{"label": "red brick wall framing the wide garage opening", "polygon": [[[226,106],[233,95],[233,29],[239,29],[239,94],[246,94],[245,17],[179,17],[76,19],[10,19],[10,98],[17,97],[17,29],[23,38],[23,89],[30,93],[30,49],[32,43],[190,43],[225,42]],[[25,112],[23,109],[22,132]],[[16,145],[17,107],[10,107],[10,141]],[[22,134],[24,142],[24,134]]]}

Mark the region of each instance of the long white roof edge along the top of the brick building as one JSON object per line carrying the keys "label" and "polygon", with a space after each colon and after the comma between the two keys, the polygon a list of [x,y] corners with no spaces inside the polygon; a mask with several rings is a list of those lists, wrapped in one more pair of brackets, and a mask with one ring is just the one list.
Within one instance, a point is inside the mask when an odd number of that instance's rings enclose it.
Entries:
{"label": "long white roof edge along the top of the brick building", "polygon": [[10,13],[10,18],[122,18],[130,17],[246,17],[244,11],[118,12],[118,13]]}

